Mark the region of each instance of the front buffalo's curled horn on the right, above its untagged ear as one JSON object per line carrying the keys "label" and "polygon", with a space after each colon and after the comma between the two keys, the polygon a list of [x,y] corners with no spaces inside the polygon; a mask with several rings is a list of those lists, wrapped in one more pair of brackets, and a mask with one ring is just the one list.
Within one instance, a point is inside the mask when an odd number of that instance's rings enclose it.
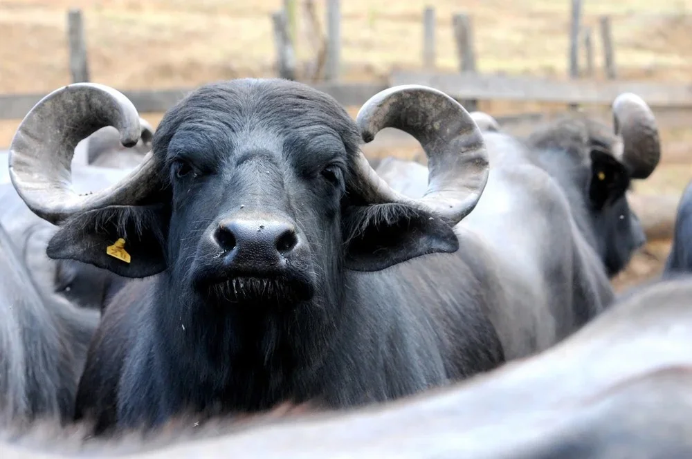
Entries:
{"label": "front buffalo's curled horn on the right, above its untagged ear", "polygon": [[411,199],[387,185],[361,153],[357,185],[370,203],[423,207],[452,225],[473,210],[488,180],[488,157],[480,129],[459,102],[426,86],[394,86],[365,102],[356,123],[365,142],[394,127],[415,137],[428,156],[428,190]]}

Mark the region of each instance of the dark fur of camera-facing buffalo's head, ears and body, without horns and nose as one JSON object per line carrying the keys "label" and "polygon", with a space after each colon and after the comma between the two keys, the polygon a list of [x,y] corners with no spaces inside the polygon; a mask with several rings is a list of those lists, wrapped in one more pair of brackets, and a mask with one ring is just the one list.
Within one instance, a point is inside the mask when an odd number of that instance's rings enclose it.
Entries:
{"label": "dark fur of camera-facing buffalo's head, ears and body, without horns and nose", "polygon": [[[75,216],[48,245],[53,258],[150,277],[108,306],[77,417],[101,430],[188,409],[347,407],[503,362],[487,310],[506,298],[480,243],[418,209],[366,207],[346,186],[358,144],[336,101],[295,83],[210,84],[172,108],[154,138],[158,196]],[[192,169],[179,177],[182,161]],[[219,219],[258,212],[296,225],[291,269],[219,279]],[[105,254],[118,237],[131,263]],[[450,272],[462,273],[451,285]]]}

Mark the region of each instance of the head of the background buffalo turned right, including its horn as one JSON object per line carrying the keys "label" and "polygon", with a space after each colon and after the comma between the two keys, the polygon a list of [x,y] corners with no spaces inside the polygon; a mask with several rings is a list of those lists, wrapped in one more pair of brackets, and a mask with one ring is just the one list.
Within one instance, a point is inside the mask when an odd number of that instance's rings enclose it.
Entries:
{"label": "head of the background buffalo turned right, including its horn", "polygon": [[612,128],[578,113],[527,138],[541,167],[567,192],[577,224],[611,277],[646,242],[628,205],[630,181],[650,176],[661,156],[656,120],[644,100],[623,93],[612,103],[612,115]]}

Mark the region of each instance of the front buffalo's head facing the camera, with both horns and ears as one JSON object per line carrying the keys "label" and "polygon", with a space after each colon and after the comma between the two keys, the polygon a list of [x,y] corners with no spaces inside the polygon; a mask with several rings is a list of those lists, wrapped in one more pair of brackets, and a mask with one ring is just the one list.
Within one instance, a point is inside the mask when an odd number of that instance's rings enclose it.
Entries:
{"label": "front buffalo's head facing the camera, with both horns and ears", "polygon": [[[488,176],[473,119],[423,86],[379,93],[354,123],[333,98],[303,84],[208,84],[166,113],[152,151],[129,175],[75,193],[73,149],[109,125],[126,147],[140,138],[140,118],[122,93],[71,84],[46,95],[12,140],[13,185],[35,214],[61,226],[48,255],[125,277],[166,271],[176,288],[215,305],[295,303],[316,292],[321,305],[344,268],[382,270],[454,252],[453,226]],[[385,127],[424,147],[424,197],[394,191],[361,153],[359,137],[369,142]]]}

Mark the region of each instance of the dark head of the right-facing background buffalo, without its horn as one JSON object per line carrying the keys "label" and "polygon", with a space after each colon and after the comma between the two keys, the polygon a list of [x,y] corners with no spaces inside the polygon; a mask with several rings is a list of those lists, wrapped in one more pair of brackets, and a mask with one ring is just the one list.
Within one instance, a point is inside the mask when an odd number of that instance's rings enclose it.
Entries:
{"label": "dark head of the right-facing background buffalo, without its horn", "polygon": [[[610,127],[581,114],[547,124],[526,139],[536,164],[565,191],[579,229],[609,277],[621,272],[646,243],[626,198],[628,169],[612,156],[614,141]],[[605,180],[598,180],[601,171]]]}

